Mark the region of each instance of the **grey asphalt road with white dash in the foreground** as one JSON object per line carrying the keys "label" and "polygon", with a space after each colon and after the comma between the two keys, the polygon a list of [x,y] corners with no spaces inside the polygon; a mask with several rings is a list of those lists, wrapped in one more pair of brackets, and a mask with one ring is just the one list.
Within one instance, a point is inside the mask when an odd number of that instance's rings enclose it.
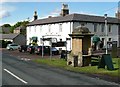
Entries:
{"label": "grey asphalt road with white dash in the foreground", "polygon": [[31,60],[21,60],[3,53],[2,85],[96,85],[98,87],[109,85],[112,87],[119,84],[36,64]]}

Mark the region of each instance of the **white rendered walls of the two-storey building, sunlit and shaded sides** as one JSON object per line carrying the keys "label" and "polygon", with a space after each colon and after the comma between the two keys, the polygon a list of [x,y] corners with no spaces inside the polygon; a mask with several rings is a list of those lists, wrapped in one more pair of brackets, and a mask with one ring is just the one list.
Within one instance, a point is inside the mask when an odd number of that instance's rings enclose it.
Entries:
{"label": "white rendered walls of the two-storey building, sunlit and shaded sides", "polygon": [[[105,38],[105,30],[101,32],[101,23],[97,24],[97,32],[94,32],[94,23],[86,23],[86,22],[64,22],[64,23],[54,23],[54,24],[46,24],[46,25],[37,25],[37,26],[28,26],[27,27],[27,45],[30,43],[31,37],[38,37],[38,45],[42,45],[42,41],[40,38],[44,36],[44,38],[57,38],[57,41],[66,41],[66,38],[70,38],[68,34],[71,34],[73,29],[81,24],[85,24],[87,28],[91,31],[91,33],[95,33],[100,38]],[[62,25],[62,31],[60,31],[60,24]],[[50,26],[50,27],[49,27]],[[118,25],[111,25],[112,32],[108,32],[108,37],[112,38],[112,41],[118,41]],[[50,29],[50,30],[49,30]],[[119,44],[119,42],[118,42]],[[49,41],[45,41],[44,45],[50,45]],[[63,48],[64,50],[66,48]],[[72,39],[67,41],[67,50],[72,49]]]}

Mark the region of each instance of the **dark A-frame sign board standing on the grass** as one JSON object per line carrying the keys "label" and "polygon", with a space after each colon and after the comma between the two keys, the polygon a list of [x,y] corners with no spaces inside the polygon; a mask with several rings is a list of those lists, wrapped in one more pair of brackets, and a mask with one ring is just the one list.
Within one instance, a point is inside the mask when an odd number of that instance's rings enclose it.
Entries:
{"label": "dark A-frame sign board standing on the grass", "polygon": [[112,58],[111,58],[110,54],[103,54],[102,55],[102,58],[98,64],[98,68],[105,69],[105,65],[107,66],[108,70],[114,70]]}

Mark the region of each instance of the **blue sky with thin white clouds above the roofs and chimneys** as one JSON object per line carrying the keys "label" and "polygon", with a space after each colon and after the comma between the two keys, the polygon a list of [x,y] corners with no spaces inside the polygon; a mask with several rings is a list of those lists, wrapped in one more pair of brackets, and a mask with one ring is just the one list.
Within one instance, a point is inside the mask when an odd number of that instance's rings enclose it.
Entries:
{"label": "blue sky with thin white clouds above the roofs and chimneys", "polygon": [[118,2],[1,2],[0,3],[0,25],[14,25],[19,21],[33,19],[34,11],[37,11],[38,18],[48,16],[59,16],[62,4],[68,4],[70,14],[88,14],[104,16],[108,14],[115,17],[118,9]]}

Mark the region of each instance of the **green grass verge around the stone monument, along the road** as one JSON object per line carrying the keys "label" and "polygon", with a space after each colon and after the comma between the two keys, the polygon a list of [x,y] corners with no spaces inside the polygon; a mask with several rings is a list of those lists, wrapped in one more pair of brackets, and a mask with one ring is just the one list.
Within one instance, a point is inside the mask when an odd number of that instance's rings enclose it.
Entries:
{"label": "green grass verge around the stone monument, along the road", "polygon": [[[89,73],[89,74],[102,74],[102,75],[110,75],[110,76],[116,76],[116,77],[120,77],[120,75],[118,74],[118,71],[120,70],[120,58],[112,58],[113,61],[113,65],[114,68],[116,70],[107,70],[107,69],[98,69],[97,65],[95,66],[85,66],[85,67],[72,67],[72,66],[68,66],[66,61],[63,59],[36,59],[33,60],[34,62],[40,63],[40,64],[47,64],[50,66],[54,66],[54,67],[59,67],[59,68],[63,68],[69,71],[74,71],[74,72],[82,72],[82,73]],[[95,60],[93,60],[95,62]],[[119,69],[118,69],[119,68]]]}

